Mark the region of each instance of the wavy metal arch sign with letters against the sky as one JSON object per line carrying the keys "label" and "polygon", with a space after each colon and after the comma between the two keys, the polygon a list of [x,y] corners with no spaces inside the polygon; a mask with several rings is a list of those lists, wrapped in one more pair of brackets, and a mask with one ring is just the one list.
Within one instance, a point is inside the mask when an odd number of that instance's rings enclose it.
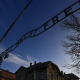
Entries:
{"label": "wavy metal arch sign with letters against the sky", "polygon": [[[39,28],[31,30],[31,31],[27,32],[26,34],[24,34],[14,45],[12,45],[11,47],[9,47],[5,51],[3,51],[0,54],[0,56],[4,57],[7,53],[9,53],[9,52],[13,51],[15,48],[17,48],[19,46],[19,44],[22,41],[24,41],[26,38],[35,37],[35,36],[40,35],[41,33],[45,32],[49,28],[53,27],[55,24],[57,24],[58,22],[60,22],[61,20],[63,20],[67,16],[69,16],[70,14],[78,11],[80,8],[77,8],[76,10],[72,11],[72,7],[74,5],[76,5],[76,4],[80,4],[80,0],[77,1],[77,2],[75,2],[74,4],[72,4],[71,6],[67,7],[66,9],[64,9],[63,11],[61,11],[60,13],[58,13],[57,15],[55,15],[54,17],[52,17],[50,20],[48,20],[46,23],[44,23]],[[63,13],[64,13],[64,16],[61,19],[59,19],[59,15],[61,15]]]}

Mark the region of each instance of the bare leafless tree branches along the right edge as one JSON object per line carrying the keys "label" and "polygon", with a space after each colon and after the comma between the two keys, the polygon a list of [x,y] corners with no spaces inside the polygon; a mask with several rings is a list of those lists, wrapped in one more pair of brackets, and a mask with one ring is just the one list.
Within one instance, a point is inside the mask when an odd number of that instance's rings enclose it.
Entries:
{"label": "bare leafless tree branches along the right edge", "polygon": [[68,54],[73,62],[72,64],[66,62],[64,67],[72,68],[77,74],[80,73],[80,19],[78,16],[72,14],[60,25],[63,30],[73,32],[66,36],[69,42],[62,41],[62,46],[66,48],[65,54]]}

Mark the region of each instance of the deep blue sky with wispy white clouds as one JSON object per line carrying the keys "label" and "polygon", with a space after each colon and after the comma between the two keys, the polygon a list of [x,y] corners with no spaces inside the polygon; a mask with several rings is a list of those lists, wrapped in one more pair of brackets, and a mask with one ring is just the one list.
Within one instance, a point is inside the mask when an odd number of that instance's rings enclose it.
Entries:
{"label": "deep blue sky with wispy white clouds", "polygon": [[[0,39],[14,20],[22,12],[30,0],[0,0]],[[22,16],[18,19],[9,33],[0,43],[0,53],[15,44],[25,33],[36,29],[54,17],[56,14],[76,2],[77,0],[33,0]],[[79,6],[78,3],[74,8]],[[62,47],[64,36],[69,34],[59,27],[61,22],[44,33],[25,39],[14,51],[9,53],[1,65],[2,69],[16,72],[20,66],[29,67],[30,62],[52,61],[63,72],[72,70],[63,68],[70,57]]]}

